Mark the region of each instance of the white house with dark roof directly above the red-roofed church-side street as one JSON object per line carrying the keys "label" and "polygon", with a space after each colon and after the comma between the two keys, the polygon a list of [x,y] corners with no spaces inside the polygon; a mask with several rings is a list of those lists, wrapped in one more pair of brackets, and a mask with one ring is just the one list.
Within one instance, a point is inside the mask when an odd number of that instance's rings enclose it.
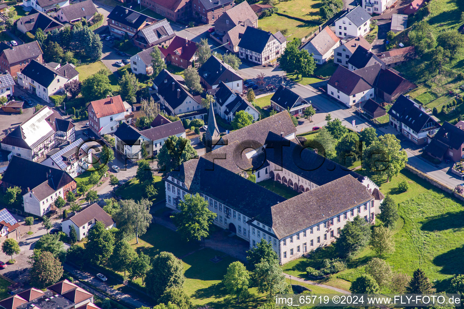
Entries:
{"label": "white house with dark roof directly above the red-roofed church-side street", "polygon": [[227,87],[237,91],[243,91],[243,79],[235,69],[216,56],[211,55],[208,60],[198,69],[200,82],[208,89],[213,89],[219,86],[220,82],[224,82]]}

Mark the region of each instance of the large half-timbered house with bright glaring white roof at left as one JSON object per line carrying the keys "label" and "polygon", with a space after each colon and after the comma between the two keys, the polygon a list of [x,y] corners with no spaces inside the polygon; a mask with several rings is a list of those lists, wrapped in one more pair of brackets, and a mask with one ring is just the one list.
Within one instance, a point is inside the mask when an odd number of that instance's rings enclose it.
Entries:
{"label": "large half-timbered house with bright glaring white roof at left", "polygon": [[[63,141],[62,138],[57,136],[57,121],[71,122],[62,120],[58,112],[44,106],[9,132],[1,140],[1,149],[11,152],[9,157],[16,155],[28,160],[38,161],[39,158],[44,157],[48,151],[51,151]],[[74,127],[71,130],[73,129]]]}

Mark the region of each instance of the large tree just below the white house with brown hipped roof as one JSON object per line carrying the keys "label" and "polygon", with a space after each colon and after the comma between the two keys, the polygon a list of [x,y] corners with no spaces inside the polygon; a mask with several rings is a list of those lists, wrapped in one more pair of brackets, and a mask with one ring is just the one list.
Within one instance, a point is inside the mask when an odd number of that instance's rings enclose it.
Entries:
{"label": "large tree just below the white house with brown hipped roof", "polygon": [[87,242],[84,244],[89,261],[96,265],[103,265],[113,253],[114,242],[113,233],[106,229],[102,221],[97,221],[90,228]]}

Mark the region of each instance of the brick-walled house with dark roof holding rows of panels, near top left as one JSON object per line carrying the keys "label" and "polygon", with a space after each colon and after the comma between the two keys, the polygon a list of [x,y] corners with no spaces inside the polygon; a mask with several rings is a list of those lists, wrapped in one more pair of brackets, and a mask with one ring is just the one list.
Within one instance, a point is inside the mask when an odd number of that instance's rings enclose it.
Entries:
{"label": "brick-walled house with dark roof holding rows of panels, near top left", "polygon": [[126,33],[129,35],[129,38],[132,38],[137,31],[146,25],[158,21],[124,6],[116,6],[108,15],[107,20],[110,34],[118,38],[124,37]]}

